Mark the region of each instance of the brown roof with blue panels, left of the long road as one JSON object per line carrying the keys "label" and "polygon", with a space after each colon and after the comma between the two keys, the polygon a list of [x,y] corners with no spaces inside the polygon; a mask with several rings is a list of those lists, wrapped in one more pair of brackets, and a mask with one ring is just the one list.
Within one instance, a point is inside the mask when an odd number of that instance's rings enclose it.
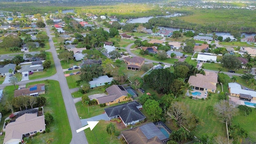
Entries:
{"label": "brown roof with blue panels, left of the long road", "polygon": [[[32,87],[37,87],[36,89]],[[31,88],[31,89],[30,89]],[[16,96],[26,96],[28,94],[36,93],[36,92],[43,92],[45,91],[44,84],[35,84],[32,86],[28,86],[28,88],[14,90],[14,97]]]}

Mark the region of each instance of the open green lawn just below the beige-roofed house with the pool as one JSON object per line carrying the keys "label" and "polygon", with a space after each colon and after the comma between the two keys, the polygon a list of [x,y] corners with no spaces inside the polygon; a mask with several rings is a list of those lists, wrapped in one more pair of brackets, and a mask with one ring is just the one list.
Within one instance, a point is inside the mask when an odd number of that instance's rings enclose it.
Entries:
{"label": "open green lawn just below the beige-roofed house with the pool", "polygon": [[219,101],[217,94],[212,94],[211,98],[208,100],[192,100],[189,97],[185,99],[179,97],[178,99],[189,106],[192,113],[202,120],[201,124],[192,130],[192,134],[199,138],[203,134],[213,133],[226,136],[225,124],[220,122],[213,113],[208,115],[206,111],[206,106],[214,106]]}

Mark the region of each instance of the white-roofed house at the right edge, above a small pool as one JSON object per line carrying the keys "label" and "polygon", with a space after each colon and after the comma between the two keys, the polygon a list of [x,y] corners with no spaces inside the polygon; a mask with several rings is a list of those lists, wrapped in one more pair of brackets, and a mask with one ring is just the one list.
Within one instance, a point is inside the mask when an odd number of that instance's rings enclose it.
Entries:
{"label": "white-roofed house at the right edge, above a small pool", "polygon": [[240,98],[240,100],[251,101],[256,100],[256,92],[252,90],[243,90],[240,84],[236,82],[228,83],[228,89],[230,96],[235,96]]}

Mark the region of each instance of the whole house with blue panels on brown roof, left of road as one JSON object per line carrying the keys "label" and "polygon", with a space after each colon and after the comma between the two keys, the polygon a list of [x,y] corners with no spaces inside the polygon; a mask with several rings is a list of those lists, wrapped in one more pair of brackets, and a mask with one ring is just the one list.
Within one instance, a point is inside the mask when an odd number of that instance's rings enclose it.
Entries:
{"label": "whole house with blue panels on brown roof, left of road", "polygon": [[20,90],[14,90],[14,97],[17,96],[38,96],[40,94],[45,94],[44,84],[35,84],[28,86],[28,88],[22,88]]}

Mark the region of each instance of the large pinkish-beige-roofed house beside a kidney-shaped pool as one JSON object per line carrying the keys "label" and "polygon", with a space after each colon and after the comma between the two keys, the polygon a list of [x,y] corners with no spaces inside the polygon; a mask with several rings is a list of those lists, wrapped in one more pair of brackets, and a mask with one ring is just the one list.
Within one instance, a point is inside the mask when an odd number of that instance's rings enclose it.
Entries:
{"label": "large pinkish-beige-roofed house beside a kidney-shaped pool", "polygon": [[215,92],[217,90],[216,84],[218,82],[218,74],[215,72],[205,72],[205,76],[202,74],[196,74],[196,76],[190,76],[188,83],[194,90]]}

